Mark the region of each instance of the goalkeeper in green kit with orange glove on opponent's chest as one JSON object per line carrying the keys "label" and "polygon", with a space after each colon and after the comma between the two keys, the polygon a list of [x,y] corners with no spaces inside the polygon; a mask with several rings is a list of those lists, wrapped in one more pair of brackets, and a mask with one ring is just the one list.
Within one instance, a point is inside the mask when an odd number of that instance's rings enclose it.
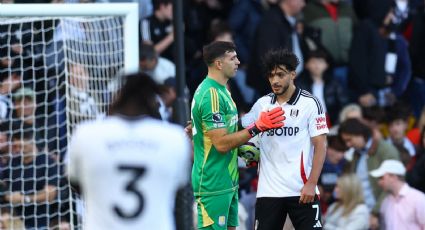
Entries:
{"label": "goalkeeper in green kit with orange glove on opponent's chest", "polygon": [[237,131],[238,111],[226,89],[240,64],[231,42],[204,47],[208,75],[192,100],[194,164],[192,186],[199,229],[234,230],[238,226],[237,147],[260,132],[283,126],[282,108],[262,112],[248,128]]}

